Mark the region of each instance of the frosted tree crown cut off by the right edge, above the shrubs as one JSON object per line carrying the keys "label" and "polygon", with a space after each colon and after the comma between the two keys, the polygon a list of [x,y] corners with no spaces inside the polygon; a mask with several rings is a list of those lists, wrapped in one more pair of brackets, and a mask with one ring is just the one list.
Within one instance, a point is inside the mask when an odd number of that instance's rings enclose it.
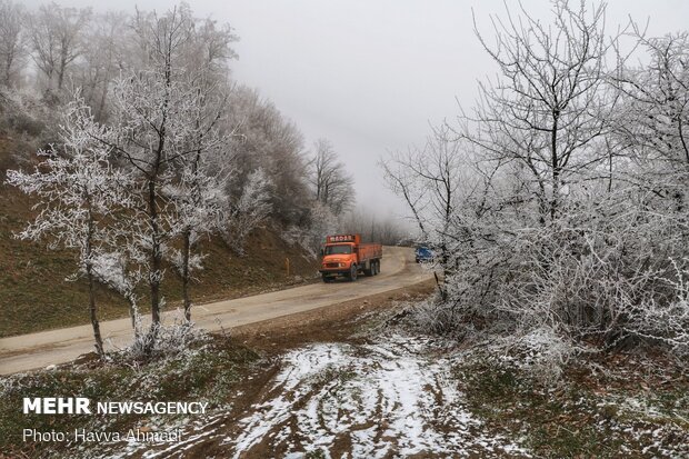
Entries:
{"label": "frosted tree crown cut off by the right edge, above the shrubs", "polygon": [[650,61],[612,79],[623,104],[615,144],[625,154],[623,179],[681,212],[689,186],[689,34],[638,39]]}

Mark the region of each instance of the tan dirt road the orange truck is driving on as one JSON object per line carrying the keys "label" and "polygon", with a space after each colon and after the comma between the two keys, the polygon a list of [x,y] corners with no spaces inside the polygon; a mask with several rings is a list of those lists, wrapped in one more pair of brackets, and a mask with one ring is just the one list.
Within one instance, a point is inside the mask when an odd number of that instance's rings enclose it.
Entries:
{"label": "tan dirt road the orange truck is driving on", "polygon": [[[247,323],[382,293],[428,278],[429,273],[422,271],[413,262],[411,249],[386,247],[381,273],[377,277],[361,277],[355,283],[346,281],[329,285],[316,283],[253,297],[198,305],[192,309],[192,320],[206,330],[232,329]],[[180,317],[179,312],[167,312],[163,315],[163,321],[170,323],[176,317]],[[101,322],[100,326],[109,349],[127,346],[131,339],[131,322],[128,318]],[[0,339],[0,375],[68,362],[92,350],[91,326],[3,338]]]}

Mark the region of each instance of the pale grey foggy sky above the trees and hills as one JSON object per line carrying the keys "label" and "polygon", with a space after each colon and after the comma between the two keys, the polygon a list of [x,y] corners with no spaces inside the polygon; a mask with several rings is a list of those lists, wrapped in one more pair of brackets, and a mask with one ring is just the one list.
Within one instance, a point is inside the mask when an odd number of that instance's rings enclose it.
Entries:
{"label": "pale grey foggy sky above the trees and hills", "polygon": [[[29,7],[40,1],[26,2]],[[97,11],[164,11],[176,1],[60,0]],[[403,212],[383,187],[377,162],[387,151],[421,146],[429,123],[452,119],[458,101],[470,108],[477,81],[496,67],[473,33],[489,34],[490,14],[505,16],[502,0],[200,0],[189,1],[198,17],[229,22],[240,37],[233,77],[256,87],[304,133],[307,147],[329,139],[353,173],[358,202],[381,214]],[[507,0],[516,8],[517,2]],[[523,0],[548,19],[547,0]],[[587,2],[590,4],[590,2]],[[687,29],[689,2],[608,2],[612,32],[628,17],[649,20],[659,36]]]}

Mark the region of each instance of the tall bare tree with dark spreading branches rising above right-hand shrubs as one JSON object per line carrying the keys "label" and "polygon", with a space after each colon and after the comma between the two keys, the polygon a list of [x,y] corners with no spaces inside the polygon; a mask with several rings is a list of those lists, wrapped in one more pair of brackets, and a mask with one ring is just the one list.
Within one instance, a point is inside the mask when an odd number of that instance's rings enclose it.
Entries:
{"label": "tall bare tree with dark spreading branches rising above right-hand shrubs", "polygon": [[596,141],[609,129],[616,101],[605,90],[605,3],[587,11],[583,2],[556,0],[552,8],[550,26],[523,8],[519,17],[507,9],[505,19],[492,18],[492,46],[477,28],[500,76],[480,83],[479,104],[458,129],[496,161],[520,163],[525,198],[536,197],[541,224],[557,218],[568,183],[605,160]]}

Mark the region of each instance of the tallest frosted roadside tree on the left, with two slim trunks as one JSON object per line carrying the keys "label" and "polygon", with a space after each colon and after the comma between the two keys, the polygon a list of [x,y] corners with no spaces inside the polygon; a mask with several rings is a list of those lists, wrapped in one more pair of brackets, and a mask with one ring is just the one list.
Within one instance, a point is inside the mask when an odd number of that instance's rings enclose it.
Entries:
{"label": "tallest frosted roadside tree on the left, with two slim trunks", "polygon": [[[209,158],[224,153],[227,138],[218,133],[223,98],[214,103],[211,94],[217,89],[213,72],[232,56],[220,48],[232,40],[228,29],[201,26],[187,4],[162,16],[137,12],[132,29],[140,68],[116,82],[112,128],[99,139],[133,180],[134,210],[127,216],[127,228],[137,252],[147,255],[139,261],[149,283],[153,337],[160,323],[163,260],[172,260],[182,278],[189,318],[189,281],[200,263],[192,249],[219,219],[224,168],[208,164]],[[217,40],[207,49],[213,33]],[[208,52],[197,56],[201,48]],[[173,249],[178,238],[181,250]]]}

